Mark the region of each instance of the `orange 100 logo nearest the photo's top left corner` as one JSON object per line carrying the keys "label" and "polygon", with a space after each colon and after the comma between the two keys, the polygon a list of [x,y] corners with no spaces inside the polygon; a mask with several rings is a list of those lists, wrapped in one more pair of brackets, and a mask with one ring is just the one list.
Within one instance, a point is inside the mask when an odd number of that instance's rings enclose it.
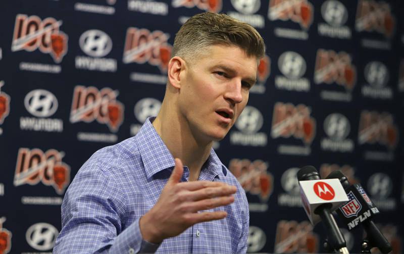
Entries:
{"label": "orange 100 logo nearest the photo's top left corner", "polygon": [[32,52],[39,48],[42,53],[51,54],[60,63],[67,53],[67,35],[59,30],[62,21],[48,17],[41,20],[38,16],[18,14],[14,27],[12,52],[26,50]]}

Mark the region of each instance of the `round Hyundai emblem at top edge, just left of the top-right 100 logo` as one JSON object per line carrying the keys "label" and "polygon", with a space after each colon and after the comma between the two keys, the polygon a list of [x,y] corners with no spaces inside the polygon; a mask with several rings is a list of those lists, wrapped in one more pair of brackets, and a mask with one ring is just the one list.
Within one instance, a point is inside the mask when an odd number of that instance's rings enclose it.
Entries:
{"label": "round Hyundai emblem at top edge, just left of the top-right 100 logo", "polygon": [[321,6],[323,19],[334,27],[340,27],[348,20],[348,11],[338,1],[328,0]]}

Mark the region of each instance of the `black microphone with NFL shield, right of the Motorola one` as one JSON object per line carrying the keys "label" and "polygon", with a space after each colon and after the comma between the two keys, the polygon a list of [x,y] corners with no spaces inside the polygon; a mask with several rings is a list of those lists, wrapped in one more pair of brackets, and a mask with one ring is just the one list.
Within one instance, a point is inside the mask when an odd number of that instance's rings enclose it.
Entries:
{"label": "black microphone with NFL shield, right of the Motorola one", "polygon": [[327,176],[327,179],[332,178],[339,179],[349,198],[349,201],[337,210],[337,214],[346,222],[348,229],[352,230],[362,223],[371,245],[378,247],[382,253],[390,252],[391,244],[372,221],[373,215],[380,212],[362,186],[360,184],[350,185],[346,176],[339,170],[333,171]]}

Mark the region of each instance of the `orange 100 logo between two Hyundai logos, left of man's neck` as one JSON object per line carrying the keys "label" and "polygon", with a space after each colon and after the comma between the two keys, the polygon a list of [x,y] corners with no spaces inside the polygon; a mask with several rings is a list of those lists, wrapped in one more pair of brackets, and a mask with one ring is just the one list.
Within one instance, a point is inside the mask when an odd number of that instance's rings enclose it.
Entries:
{"label": "orange 100 logo between two Hyundai logos, left of man's neck", "polygon": [[116,98],[118,91],[109,87],[101,90],[94,86],[78,85],[74,88],[70,122],[80,121],[107,124],[111,131],[117,132],[123,122],[123,104]]}

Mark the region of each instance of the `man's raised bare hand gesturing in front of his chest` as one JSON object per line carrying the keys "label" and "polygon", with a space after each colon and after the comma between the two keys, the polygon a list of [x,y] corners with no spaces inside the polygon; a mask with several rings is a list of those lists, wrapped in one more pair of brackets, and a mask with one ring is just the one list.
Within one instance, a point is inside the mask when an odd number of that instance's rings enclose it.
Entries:
{"label": "man's raised bare hand gesturing in front of his chest", "polygon": [[236,187],[222,182],[180,182],[184,168],[175,159],[174,170],[157,204],[140,218],[140,232],[144,240],[160,243],[165,238],[181,234],[188,227],[205,221],[220,220],[225,211],[202,212],[234,201]]}

